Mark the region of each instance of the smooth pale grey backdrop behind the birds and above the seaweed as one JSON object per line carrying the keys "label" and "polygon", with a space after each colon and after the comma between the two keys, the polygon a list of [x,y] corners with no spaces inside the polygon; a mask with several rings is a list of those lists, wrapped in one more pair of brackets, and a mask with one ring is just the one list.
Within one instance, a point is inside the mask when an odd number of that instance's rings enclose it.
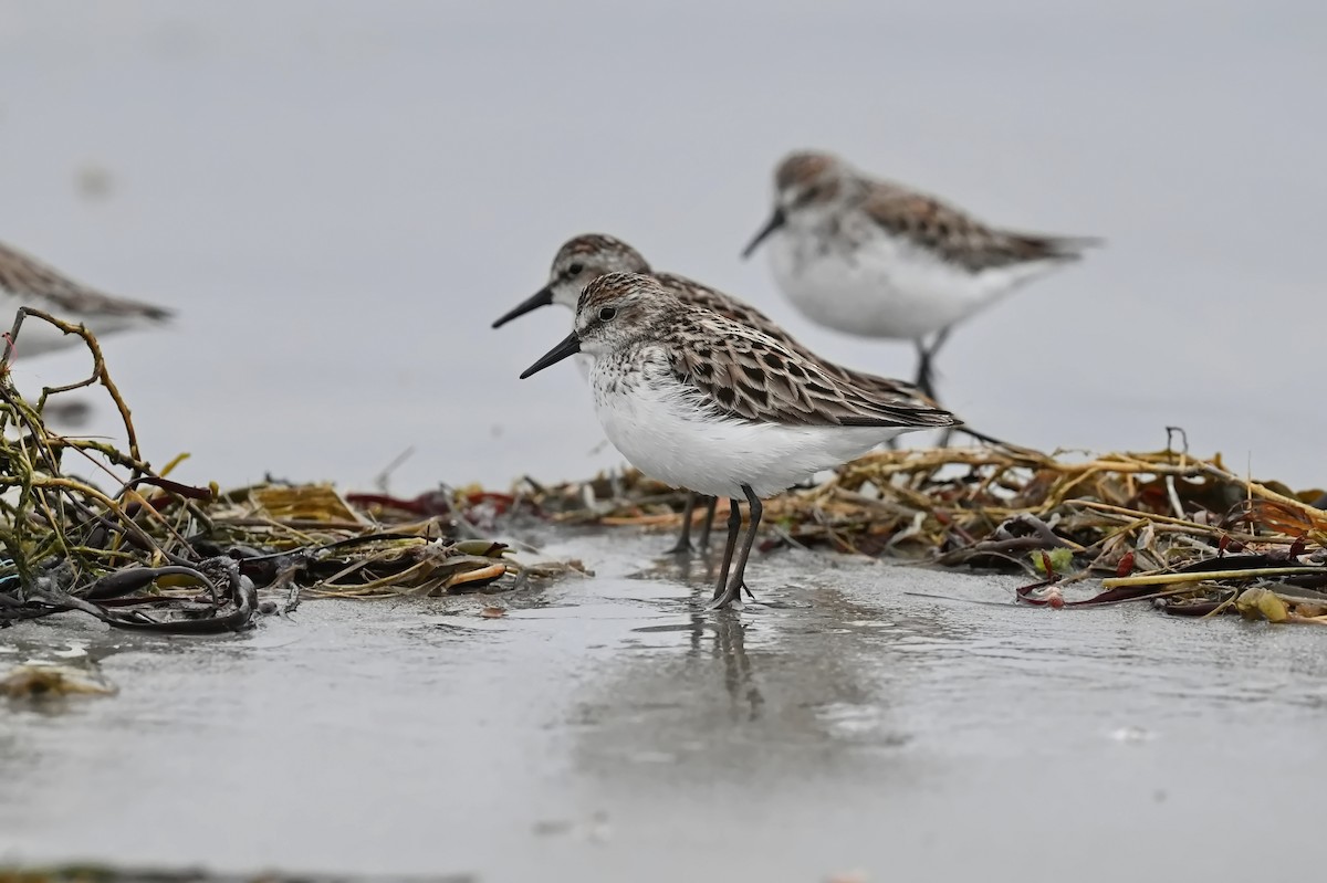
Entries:
{"label": "smooth pale grey backdrop behind the birds and above the seaweed", "polygon": [[1109,240],[955,335],[942,391],[971,423],[1107,449],[1181,424],[1322,484],[1324,33],[1308,1],[7,1],[0,239],[179,309],[107,350],[149,456],[194,452],[182,477],[362,485],[415,445],[402,491],[506,485],[617,461],[569,365],[516,379],[568,316],[488,329],[572,233],[910,373],[738,260],[774,162],[824,146]]}

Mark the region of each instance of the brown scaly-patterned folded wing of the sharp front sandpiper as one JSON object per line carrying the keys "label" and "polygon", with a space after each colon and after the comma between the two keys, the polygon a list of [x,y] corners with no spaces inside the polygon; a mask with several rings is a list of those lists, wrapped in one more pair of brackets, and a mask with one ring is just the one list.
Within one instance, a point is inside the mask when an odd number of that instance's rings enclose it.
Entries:
{"label": "brown scaly-patterned folded wing of the sharp front sandpiper", "polygon": [[673,373],[697,390],[702,407],[725,416],[782,426],[958,423],[909,395],[835,377],[767,334],[713,313],[686,316],[674,334],[667,347]]}

